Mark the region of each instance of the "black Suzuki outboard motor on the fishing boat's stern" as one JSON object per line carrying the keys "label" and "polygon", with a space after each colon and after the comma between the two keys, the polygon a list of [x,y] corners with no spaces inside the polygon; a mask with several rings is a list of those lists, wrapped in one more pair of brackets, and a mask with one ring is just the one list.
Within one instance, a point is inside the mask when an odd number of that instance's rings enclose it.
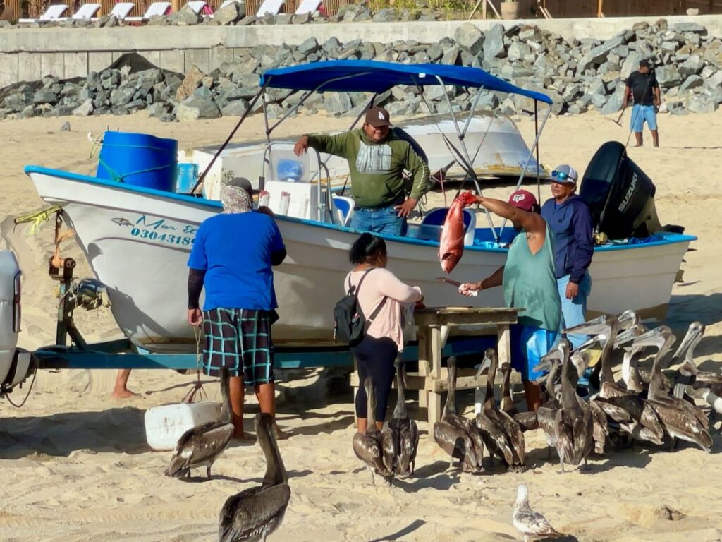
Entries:
{"label": "black Suzuki outboard motor on the fishing boat's stern", "polygon": [[610,239],[648,237],[658,231],[682,233],[682,226],[662,227],[654,206],[656,188],[627,155],[622,143],[604,143],[584,172],[579,195],[589,206],[596,232]]}

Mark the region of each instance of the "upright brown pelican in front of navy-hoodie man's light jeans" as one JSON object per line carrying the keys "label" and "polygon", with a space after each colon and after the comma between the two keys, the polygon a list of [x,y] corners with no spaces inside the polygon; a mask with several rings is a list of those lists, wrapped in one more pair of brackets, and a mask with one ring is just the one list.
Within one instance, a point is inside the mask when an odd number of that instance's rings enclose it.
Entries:
{"label": "upright brown pelican in front of navy-hoodie man's light jeans", "polygon": [[[557,453],[564,472],[564,464],[587,465],[587,456],[594,445],[593,417],[591,407],[579,400],[575,390],[576,371],[570,370],[569,344],[560,343],[565,350],[562,359],[562,408],[554,416],[554,435],[557,437]],[[570,374],[570,373],[574,374]]]}

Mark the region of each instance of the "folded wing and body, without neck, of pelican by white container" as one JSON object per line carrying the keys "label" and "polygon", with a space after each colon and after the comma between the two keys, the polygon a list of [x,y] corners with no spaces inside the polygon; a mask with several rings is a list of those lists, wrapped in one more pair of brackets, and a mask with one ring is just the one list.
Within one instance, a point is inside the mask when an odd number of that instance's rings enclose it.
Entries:
{"label": "folded wing and body, without neck, of pelican by white container", "polygon": [[232,423],[213,421],[188,429],[175,445],[165,476],[177,477],[187,468],[213,461],[226,449],[232,436]]}

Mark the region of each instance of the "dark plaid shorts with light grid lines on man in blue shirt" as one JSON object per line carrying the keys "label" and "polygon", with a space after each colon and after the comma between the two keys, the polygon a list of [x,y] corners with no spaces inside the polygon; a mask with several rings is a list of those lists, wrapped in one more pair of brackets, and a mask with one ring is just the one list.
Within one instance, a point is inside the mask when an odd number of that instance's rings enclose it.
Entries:
{"label": "dark plaid shorts with light grid lines on man in blue shirt", "polygon": [[204,374],[217,377],[225,367],[231,377],[243,375],[248,386],[273,382],[270,317],[271,311],[262,310],[218,307],[204,311]]}

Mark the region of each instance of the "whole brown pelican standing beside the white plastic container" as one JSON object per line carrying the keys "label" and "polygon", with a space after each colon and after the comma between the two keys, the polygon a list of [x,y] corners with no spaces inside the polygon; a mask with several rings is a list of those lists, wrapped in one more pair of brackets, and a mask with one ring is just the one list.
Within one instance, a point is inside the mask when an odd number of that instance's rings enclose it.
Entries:
{"label": "whole brown pelican standing beside the white plastic container", "polygon": [[170,465],[165,476],[190,478],[191,468],[206,467],[206,476],[211,477],[211,467],[233,436],[233,423],[228,392],[228,369],[222,367],[220,375],[222,410],[219,421],[203,423],[188,429],[178,439]]}

